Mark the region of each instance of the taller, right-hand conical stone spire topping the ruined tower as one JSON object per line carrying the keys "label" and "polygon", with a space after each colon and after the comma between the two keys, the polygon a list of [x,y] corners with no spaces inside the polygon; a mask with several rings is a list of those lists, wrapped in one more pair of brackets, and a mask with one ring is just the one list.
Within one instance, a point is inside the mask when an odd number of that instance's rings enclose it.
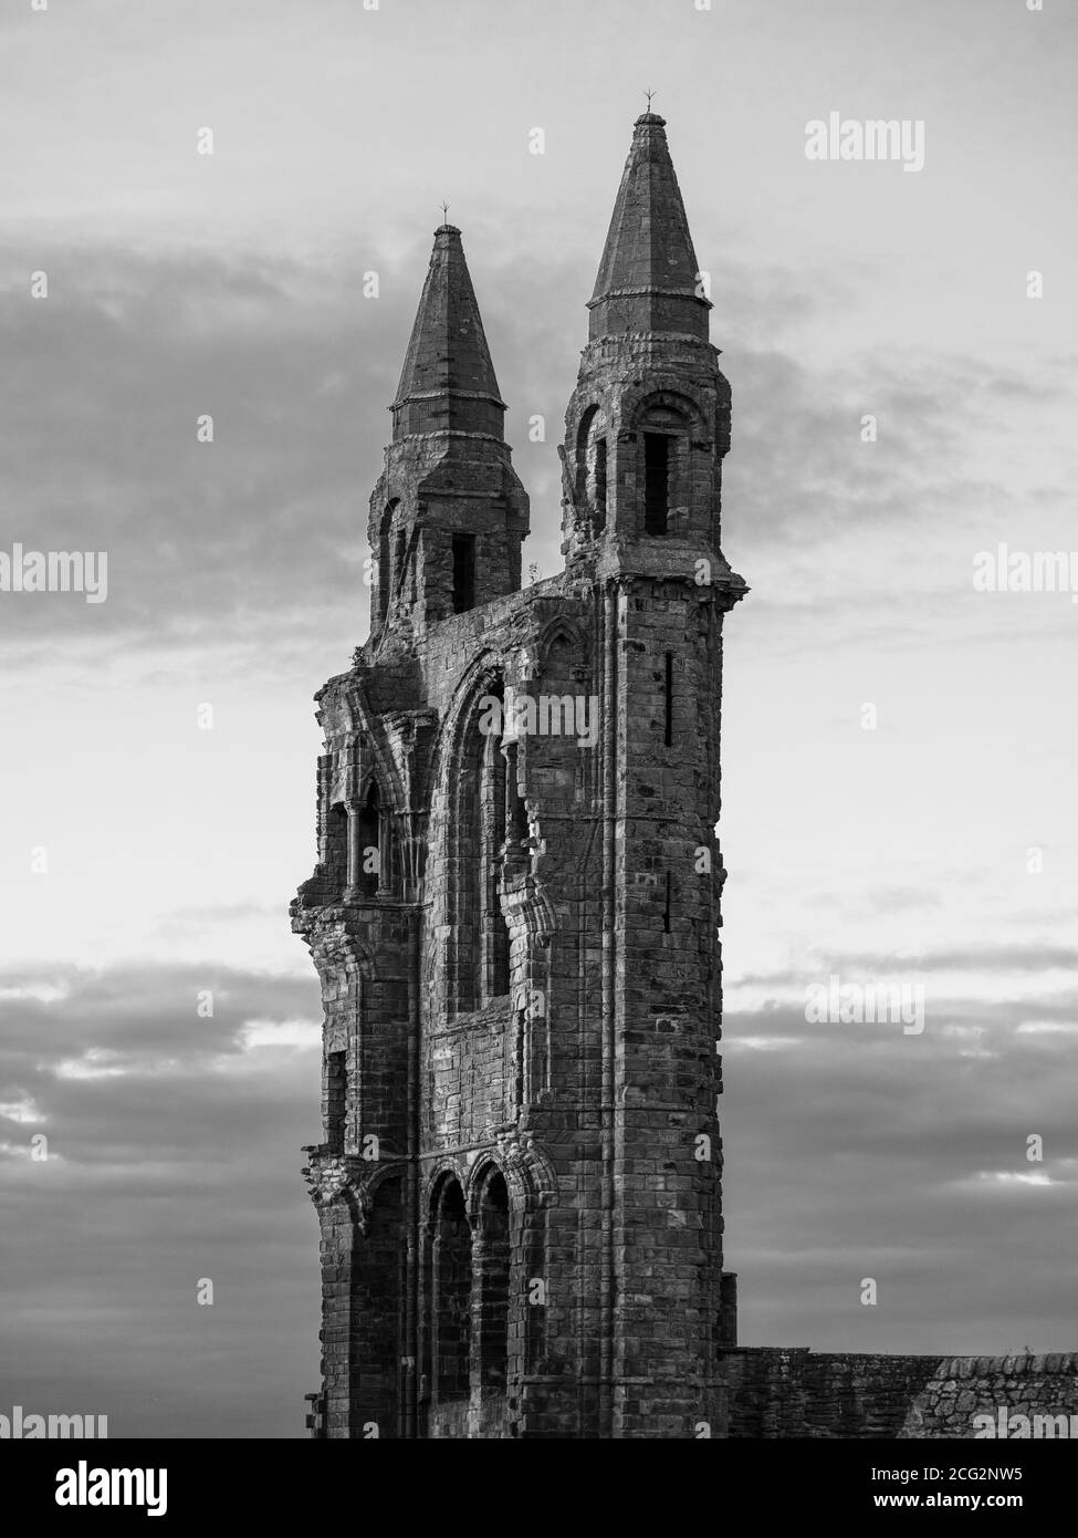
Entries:
{"label": "taller, right-hand conical stone spire topping the ruined tower", "polygon": [[710,301],[698,297],[697,254],[664,129],[658,112],[635,122],[587,305],[592,341],[644,331],[707,340]]}

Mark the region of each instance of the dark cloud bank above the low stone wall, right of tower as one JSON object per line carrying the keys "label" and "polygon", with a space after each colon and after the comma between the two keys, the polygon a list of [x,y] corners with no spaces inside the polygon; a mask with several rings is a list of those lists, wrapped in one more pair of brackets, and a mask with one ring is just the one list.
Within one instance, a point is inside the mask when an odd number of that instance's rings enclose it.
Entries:
{"label": "dark cloud bank above the low stone wall, right of tower", "polygon": [[[1073,1018],[1078,995],[1058,1009]],[[1030,1014],[1023,998],[967,994],[904,1037],[807,1026],[775,1000],[727,1007],[726,1264],[740,1272],[744,1344],[1066,1347],[1072,1043],[1023,1035]],[[972,1057],[969,1020],[984,1043]],[[1043,1163],[1027,1158],[1033,1134]],[[863,1277],[877,1278],[878,1307],[861,1306]]]}

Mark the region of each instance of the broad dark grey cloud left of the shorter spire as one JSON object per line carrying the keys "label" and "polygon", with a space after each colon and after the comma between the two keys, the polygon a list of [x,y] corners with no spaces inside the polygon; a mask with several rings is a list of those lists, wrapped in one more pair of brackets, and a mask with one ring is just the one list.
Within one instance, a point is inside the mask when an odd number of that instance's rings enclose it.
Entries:
{"label": "broad dark grey cloud left of the shorter spire", "polygon": [[[106,551],[108,603],[8,595],[23,644],[269,638],[361,608],[400,306],[292,263],[68,251],[8,294],[0,448],[12,540]],[[401,343],[403,346],[403,343]],[[383,398],[384,397],[384,398]],[[380,409],[375,409],[375,401]],[[197,421],[214,418],[214,441]],[[306,617],[306,618],[304,618]]]}

